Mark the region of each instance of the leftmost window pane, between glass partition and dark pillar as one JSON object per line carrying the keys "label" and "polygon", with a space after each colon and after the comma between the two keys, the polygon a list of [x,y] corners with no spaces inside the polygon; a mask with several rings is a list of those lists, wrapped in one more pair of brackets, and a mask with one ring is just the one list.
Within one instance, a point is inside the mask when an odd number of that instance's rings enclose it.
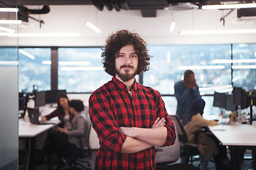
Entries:
{"label": "leftmost window pane, between glass partition and dark pillar", "polygon": [[50,48],[18,49],[18,91],[50,90]]}

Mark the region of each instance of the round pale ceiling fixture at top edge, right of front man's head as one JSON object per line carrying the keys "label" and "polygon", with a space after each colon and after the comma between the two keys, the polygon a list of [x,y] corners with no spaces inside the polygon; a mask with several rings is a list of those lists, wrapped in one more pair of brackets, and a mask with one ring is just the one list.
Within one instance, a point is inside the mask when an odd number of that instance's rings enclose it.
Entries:
{"label": "round pale ceiling fixture at top edge, right of front man's head", "polygon": [[196,2],[194,1],[172,1],[167,0],[168,6],[164,8],[164,10],[175,10],[175,11],[183,11],[183,10],[191,10],[191,9],[198,9],[199,6],[195,5]]}

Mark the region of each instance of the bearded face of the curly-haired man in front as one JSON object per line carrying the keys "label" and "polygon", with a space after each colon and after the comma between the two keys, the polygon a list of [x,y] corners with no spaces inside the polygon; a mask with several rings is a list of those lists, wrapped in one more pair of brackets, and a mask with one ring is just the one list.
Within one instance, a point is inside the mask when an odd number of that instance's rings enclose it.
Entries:
{"label": "bearded face of the curly-haired man in front", "polygon": [[129,81],[136,75],[138,68],[138,55],[135,53],[133,45],[122,47],[115,58],[116,77],[122,81]]}

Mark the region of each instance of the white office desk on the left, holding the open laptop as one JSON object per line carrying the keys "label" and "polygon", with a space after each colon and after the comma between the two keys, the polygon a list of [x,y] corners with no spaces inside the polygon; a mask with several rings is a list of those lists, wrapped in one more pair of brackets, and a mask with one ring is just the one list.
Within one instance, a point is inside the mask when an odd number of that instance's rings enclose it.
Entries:
{"label": "white office desk on the left, holding the open laptop", "polygon": [[55,125],[58,125],[60,123],[60,120],[58,118],[53,118],[50,120],[50,122],[53,122],[55,124],[50,125],[34,125],[29,122],[24,122],[24,120],[18,120],[18,137],[26,137],[30,140],[29,150],[30,154],[28,155],[28,169],[35,169],[35,158],[36,158],[36,148],[35,148],[35,137],[36,135],[41,134],[42,132],[46,132],[46,130],[49,130],[50,128],[53,128]]}

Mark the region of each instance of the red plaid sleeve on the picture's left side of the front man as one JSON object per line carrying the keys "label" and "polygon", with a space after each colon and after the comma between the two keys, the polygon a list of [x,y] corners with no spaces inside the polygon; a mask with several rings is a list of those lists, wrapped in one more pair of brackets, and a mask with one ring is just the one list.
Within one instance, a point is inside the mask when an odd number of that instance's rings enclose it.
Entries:
{"label": "red plaid sleeve on the picture's left side of the front man", "polygon": [[126,136],[118,130],[110,108],[110,100],[107,100],[101,91],[94,91],[89,98],[89,108],[92,128],[97,133],[102,149],[109,152],[121,152]]}

